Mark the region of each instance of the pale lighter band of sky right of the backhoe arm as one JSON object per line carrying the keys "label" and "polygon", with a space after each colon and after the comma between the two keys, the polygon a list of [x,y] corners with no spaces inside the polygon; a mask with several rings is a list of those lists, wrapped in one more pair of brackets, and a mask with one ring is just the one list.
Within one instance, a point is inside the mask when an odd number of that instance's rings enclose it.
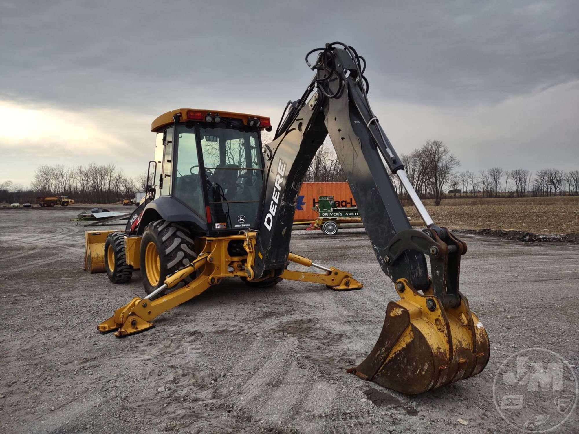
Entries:
{"label": "pale lighter band of sky right of the backhoe arm", "polygon": [[499,104],[441,108],[379,102],[375,113],[398,153],[427,139],[445,142],[461,170],[493,166],[577,170],[579,80]]}

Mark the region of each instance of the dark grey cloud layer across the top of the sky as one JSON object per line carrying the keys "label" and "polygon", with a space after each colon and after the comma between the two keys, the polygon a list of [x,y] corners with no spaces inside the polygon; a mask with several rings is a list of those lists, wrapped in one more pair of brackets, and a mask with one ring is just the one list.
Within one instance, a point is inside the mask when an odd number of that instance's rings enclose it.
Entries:
{"label": "dark grey cloud layer across the top of the sky", "polygon": [[564,1],[13,2],[0,14],[0,93],[71,106],[283,101],[311,75],[304,54],[336,38],[391,99],[477,105],[578,79],[578,18]]}

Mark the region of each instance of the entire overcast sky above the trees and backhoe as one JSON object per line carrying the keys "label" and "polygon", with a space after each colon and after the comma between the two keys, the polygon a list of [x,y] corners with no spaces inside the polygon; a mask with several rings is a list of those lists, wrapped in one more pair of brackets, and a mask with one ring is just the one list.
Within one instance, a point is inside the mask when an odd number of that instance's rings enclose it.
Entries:
{"label": "entire overcast sky above the trees and backhoe", "polygon": [[39,164],[146,171],[181,107],[277,125],[342,41],[368,61],[398,153],[444,141],[461,170],[579,169],[579,2],[2,1],[0,182]]}

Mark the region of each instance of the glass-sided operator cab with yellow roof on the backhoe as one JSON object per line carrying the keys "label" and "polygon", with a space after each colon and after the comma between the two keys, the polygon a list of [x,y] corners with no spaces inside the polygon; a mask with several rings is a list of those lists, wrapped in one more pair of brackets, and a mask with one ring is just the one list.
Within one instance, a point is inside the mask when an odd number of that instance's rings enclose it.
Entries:
{"label": "glass-sided operator cab with yellow roof on the backhoe", "polygon": [[158,204],[163,219],[197,234],[256,229],[263,129],[272,129],[268,117],[244,113],[178,109],[157,117],[154,200],[146,208]]}

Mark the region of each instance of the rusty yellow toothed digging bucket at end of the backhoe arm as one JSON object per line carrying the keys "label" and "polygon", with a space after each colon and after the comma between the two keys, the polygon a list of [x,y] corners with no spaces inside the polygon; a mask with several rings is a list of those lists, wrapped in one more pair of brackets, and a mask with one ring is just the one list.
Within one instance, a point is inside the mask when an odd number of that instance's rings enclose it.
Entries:
{"label": "rusty yellow toothed digging bucket at end of the backhoe arm", "polygon": [[460,294],[456,308],[422,295],[399,279],[380,337],[371,353],[349,372],[395,391],[415,395],[449,382],[472,377],[489,361],[489,338]]}

